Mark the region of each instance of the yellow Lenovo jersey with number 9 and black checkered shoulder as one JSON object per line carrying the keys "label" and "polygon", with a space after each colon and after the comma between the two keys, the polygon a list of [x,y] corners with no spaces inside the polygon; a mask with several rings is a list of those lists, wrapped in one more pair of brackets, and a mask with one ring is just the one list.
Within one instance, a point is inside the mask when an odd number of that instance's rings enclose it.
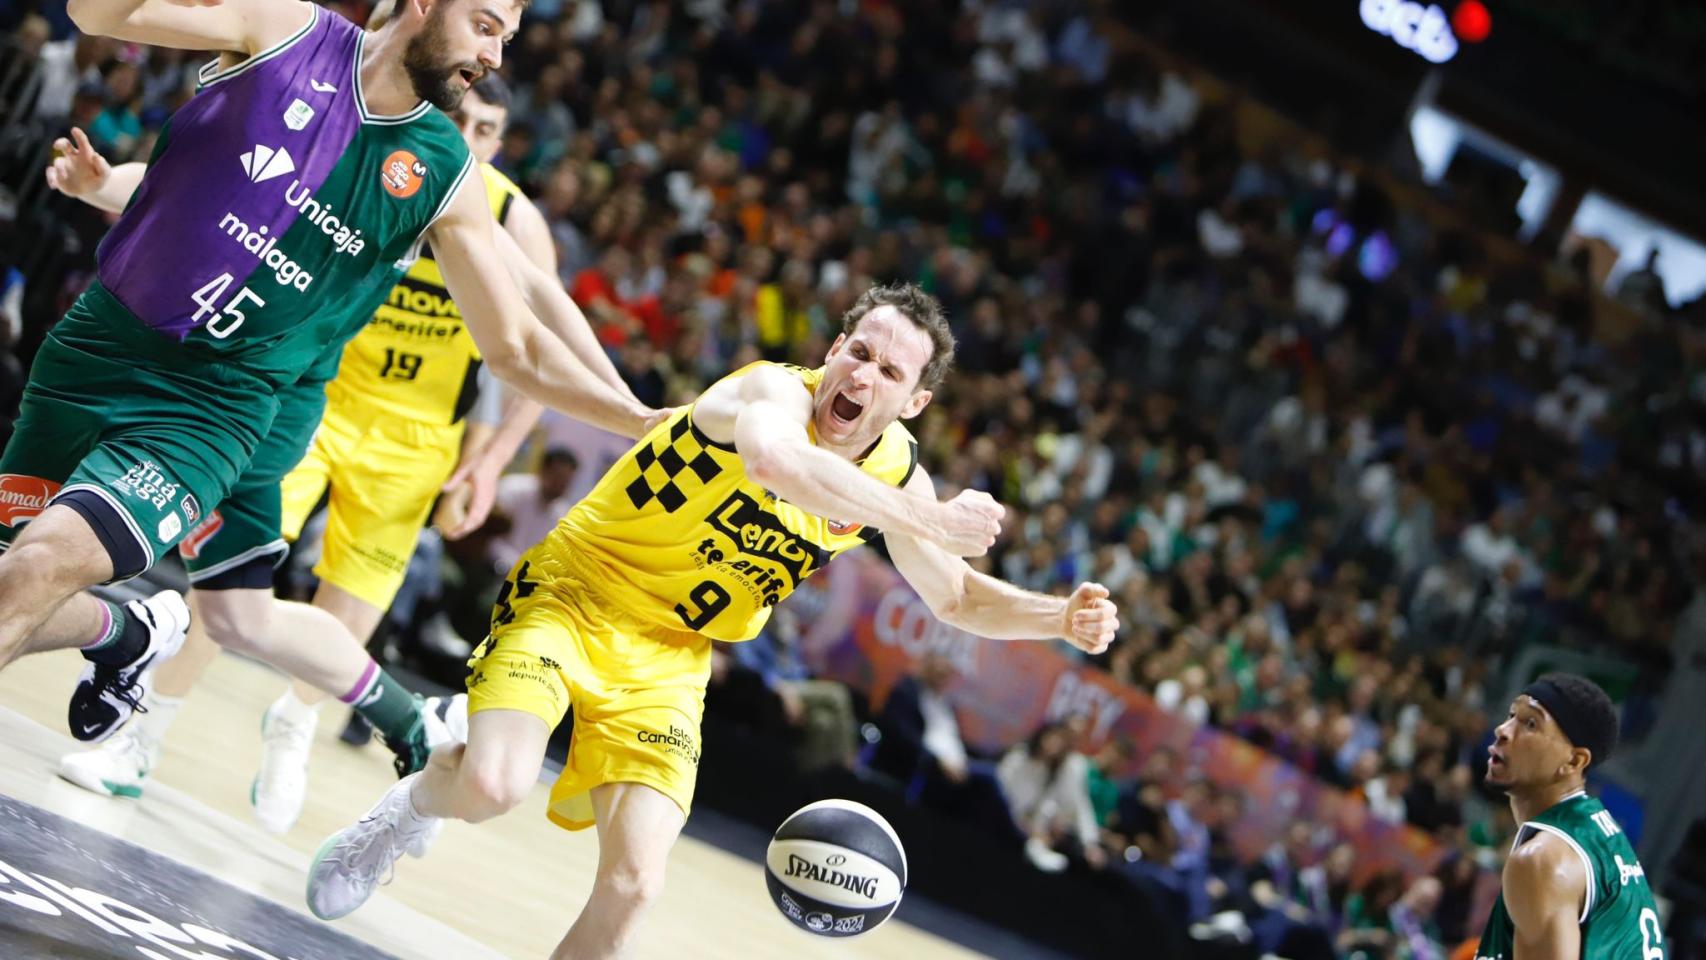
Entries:
{"label": "yellow Lenovo jersey with number 9 and black checkered shoulder", "polygon": [[[822,368],[780,367],[814,392],[824,377]],[[901,423],[858,462],[892,486],[904,486],[916,466],[918,443]],[[616,460],[546,546],[635,619],[737,641],[757,636],[771,607],[836,554],[877,535],[776,500],[732,445],[693,425],[688,406]]]}

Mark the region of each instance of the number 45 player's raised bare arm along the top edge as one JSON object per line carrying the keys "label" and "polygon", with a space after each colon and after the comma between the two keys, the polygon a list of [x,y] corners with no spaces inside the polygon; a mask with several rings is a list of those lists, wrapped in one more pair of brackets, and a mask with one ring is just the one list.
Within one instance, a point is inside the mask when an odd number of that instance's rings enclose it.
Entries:
{"label": "number 45 player's raised bare arm along the top edge", "polygon": [[176,46],[259,53],[302,29],[302,0],[68,0],[65,12],[85,34]]}

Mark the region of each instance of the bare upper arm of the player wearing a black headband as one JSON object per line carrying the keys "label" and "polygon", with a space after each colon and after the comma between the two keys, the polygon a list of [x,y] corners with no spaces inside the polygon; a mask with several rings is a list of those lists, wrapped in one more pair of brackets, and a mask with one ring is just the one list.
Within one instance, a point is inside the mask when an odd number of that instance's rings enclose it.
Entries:
{"label": "bare upper arm of the player wearing a black headband", "polygon": [[1549,834],[1512,851],[1505,861],[1505,909],[1517,928],[1512,960],[1581,957],[1581,858]]}

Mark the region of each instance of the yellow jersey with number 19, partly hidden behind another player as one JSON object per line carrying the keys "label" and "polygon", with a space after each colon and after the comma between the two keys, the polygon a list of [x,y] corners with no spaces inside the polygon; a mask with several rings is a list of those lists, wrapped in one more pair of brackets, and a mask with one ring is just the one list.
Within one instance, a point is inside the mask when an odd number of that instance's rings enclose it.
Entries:
{"label": "yellow jersey with number 19, partly hidden behind another player", "polygon": [[[510,206],[525,198],[491,164],[481,164],[479,172],[491,215],[503,228]],[[374,319],[345,348],[329,397],[333,404],[380,408],[425,423],[459,423],[474,406],[479,363],[479,348],[444,286],[438,263],[423,247]]]}

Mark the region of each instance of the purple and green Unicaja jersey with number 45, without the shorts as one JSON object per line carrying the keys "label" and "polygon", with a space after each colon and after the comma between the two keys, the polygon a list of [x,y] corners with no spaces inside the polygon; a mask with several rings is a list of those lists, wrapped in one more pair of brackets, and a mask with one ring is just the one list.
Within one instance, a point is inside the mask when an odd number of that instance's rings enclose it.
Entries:
{"label": "purple and green Unicaja jersey with number 45, without the shorts", "polygon": [[96,256],[130,322],[280,385],[360,331],[474,169],[428,104],[367,113],[367,34],[307,9],[278,46],[203,68]]}

